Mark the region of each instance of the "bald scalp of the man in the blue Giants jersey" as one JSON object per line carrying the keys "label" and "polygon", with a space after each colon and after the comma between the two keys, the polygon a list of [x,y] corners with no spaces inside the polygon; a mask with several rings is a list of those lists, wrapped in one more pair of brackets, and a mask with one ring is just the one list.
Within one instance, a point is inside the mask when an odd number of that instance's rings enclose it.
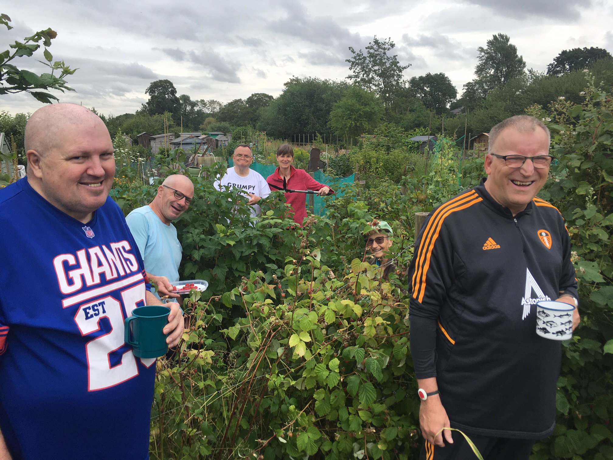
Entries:
{"label": "bald scalp of the man in the blue Giants jersey", "polygon": [[45,155],[55,148],[62,148],[64,132],[78,126],[104,126],[106,129],[100,117],[81,105],[65,102],[45,105],[32,113],[26,124],[26,152],[35,150],[39,155]]}

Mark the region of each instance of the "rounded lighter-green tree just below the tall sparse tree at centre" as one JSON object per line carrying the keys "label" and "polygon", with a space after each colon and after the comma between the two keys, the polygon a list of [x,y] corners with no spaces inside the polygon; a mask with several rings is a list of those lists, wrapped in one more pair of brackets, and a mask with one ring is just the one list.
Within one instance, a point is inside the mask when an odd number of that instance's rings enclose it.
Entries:
{"label": "rounded lighter-green tree just below the tall sparse tree at centre", "polygon": [[349,139],[372,132],[381,123],[383,104],[375,93],[351,86],[343,99],[330,112],[330,128],[340,137]]}

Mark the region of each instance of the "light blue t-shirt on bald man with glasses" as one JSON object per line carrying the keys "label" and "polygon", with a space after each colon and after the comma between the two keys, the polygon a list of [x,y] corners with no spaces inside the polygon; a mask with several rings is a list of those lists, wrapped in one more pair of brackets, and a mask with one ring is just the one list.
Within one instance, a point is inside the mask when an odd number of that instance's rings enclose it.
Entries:
{"label": "light blue t-shirt on bald man with glasses", "polygon": [[183,248],[175,226],[166,225],[148,206],[133,210],[126,222],[145,261],[145,271],[177,282]]}

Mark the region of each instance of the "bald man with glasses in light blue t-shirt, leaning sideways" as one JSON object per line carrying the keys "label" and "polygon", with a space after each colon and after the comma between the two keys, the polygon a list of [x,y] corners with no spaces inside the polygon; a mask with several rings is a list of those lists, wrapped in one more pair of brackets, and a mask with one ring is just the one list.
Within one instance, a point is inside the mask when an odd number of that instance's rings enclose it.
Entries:
{"label": "bald man with glasses in light blue t-shirt, leaning sideways", "polygon": [[158,187],[158,194],[151,204],[133,210],[126,217],[145,262],[145,272],[158,285],[162,295],[178,297],[170,289],[172,283],[179,280],[183,248],[172,221],[188,209],[193,197],[194,185],[188,177],[170,175]]}

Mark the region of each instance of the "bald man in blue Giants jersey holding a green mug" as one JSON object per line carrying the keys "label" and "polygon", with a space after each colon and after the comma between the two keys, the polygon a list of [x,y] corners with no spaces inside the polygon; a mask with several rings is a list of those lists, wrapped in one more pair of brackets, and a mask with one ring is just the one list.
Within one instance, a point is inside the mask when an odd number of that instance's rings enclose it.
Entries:
{"label": "bald man in blue Giants jersey holding a green mug", "polygon": [[[158,305],[110,199],[109,131],[74,104],[34,112],[28,176],[0,190],[0,460],[148,458],[155,359],[124,319]],[[170,307],[170,347],[183,332]]]}

